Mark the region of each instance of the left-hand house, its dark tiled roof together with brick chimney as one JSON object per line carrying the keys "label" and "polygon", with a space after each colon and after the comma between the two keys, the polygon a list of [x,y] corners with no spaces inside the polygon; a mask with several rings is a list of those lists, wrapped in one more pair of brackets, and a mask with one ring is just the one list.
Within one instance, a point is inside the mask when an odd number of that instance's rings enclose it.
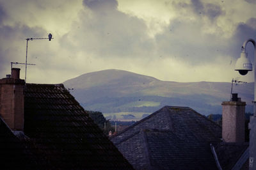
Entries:
{"label": "left-hand house, its dark tiled roof together with brick chimney", "polygon": [[0,80],[1,169],[132,169],[63,84]]}

